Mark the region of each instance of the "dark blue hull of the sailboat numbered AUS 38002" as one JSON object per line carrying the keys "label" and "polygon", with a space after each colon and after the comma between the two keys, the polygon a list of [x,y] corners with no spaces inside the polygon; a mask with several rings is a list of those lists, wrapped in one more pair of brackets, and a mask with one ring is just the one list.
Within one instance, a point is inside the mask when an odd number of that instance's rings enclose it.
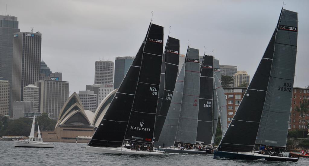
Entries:
{"label": "dark blue hull of the sailboat numbered AUS 38002", "polygon": [[293,157],[281,157],[272,155],[261,155],[258,153],[235,153],[235,152],[224,152],[224,151],[214,151],[214,159],[225,158],[225,159],[245,159],[245,160],[256,160],[265,159],[267,161],[298,161],[298,158]]}

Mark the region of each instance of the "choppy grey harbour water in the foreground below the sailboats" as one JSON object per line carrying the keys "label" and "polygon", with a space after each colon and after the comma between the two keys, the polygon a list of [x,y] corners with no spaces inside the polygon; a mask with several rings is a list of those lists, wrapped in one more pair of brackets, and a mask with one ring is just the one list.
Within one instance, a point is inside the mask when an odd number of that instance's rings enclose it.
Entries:
{"label": "choppy grey harbour water in the foreground below the sailboats", "polygon": [[266,160],[213,159],[213,155],[111,155],[85,153],[85,143],[54,142],[54,148],[14,147],[13,141],[0,141],[0,165],[299,165],[308,166],[309,158],[298,162]]}

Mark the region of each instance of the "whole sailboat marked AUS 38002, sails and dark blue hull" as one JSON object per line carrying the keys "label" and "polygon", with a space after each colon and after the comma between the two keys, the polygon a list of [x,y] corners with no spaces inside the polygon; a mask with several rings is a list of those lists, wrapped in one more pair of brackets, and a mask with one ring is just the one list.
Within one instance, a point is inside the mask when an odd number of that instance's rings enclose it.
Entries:
{"label": "whole sailboat marked AUS 38002, sails and dark blue hull", "polygon": [[297,24],[297,13],[282,8],[273,36],[214,158],[298,161],[280,153],[280,148],[286,147],[290,118]]}

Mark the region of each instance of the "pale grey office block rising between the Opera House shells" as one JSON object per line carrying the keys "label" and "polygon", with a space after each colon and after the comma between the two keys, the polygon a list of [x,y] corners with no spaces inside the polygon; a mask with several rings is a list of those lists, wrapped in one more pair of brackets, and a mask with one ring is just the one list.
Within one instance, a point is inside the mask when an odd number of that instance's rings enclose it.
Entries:
{"label": "pale grey office block rising between the Opera House shells", "polygon": [[96,98],[97,95],[93,93],[91,90],[80,90],[78,92],[78,97],[83,104],[85,110],[89,110],[95,112],[96,109]]}

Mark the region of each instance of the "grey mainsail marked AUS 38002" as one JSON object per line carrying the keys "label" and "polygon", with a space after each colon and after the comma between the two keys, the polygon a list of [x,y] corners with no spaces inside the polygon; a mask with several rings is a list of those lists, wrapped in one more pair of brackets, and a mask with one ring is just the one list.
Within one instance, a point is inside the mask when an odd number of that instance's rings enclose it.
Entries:
{"label": "grey mainsail marked AUS 38002", "polygon": [[286,146],[297,51],[297,24],[297,13],[283,9],[256,144]]}

